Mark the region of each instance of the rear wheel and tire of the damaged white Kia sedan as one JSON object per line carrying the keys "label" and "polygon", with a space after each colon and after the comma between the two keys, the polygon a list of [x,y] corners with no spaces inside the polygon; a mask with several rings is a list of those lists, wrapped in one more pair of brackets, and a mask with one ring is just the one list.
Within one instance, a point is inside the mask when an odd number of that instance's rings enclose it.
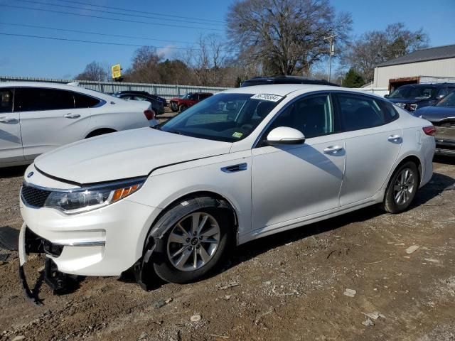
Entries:
{"label": "rear wheel and tire of the damaged white Kia sedan", "polygon": [[401,213],[410,207],[419,188],[419,170],[414,162],[403,163],[395,170],[385,191],[384,210]]}

